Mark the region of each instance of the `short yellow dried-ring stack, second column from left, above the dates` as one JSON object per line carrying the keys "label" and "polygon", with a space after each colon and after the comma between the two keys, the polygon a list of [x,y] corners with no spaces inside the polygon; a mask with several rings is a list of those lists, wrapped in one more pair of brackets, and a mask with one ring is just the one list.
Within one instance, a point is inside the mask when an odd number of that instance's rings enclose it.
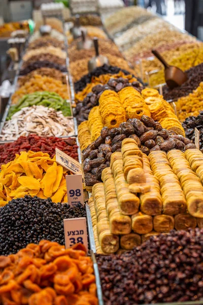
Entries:
{"label": "short yellow dried-ring stack, second column from left, above the dates", "polygon": [[99,106],[95,106],[91,109],[88,117],[88,128],[91,134],[91,141],[93,142],[100,136],[101,129],[103,129]]}

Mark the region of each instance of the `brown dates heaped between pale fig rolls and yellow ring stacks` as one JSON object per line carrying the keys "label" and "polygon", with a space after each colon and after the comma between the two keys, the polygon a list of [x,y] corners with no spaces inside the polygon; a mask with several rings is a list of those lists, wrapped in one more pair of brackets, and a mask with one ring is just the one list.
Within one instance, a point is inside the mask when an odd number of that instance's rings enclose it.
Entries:
{"label": "brown dates heaped between pale fig rolls and yellow ring stacks", "polygon": [[104,127],[100,136],[83,150],[86,186],[91,187],[101,181],[103,169],[110,166],[112,153],[121,151],[122,140],[125,138],[136,140],[146,155],[154,150],[180,149],[185,151],[189,148],[196,148],[191,140],[177,135],[174,131],[163,129],[158,122],[147,115],[143,115],[141,120],[130,118],[127,123],[121,123],[119,128],[109,130]]}

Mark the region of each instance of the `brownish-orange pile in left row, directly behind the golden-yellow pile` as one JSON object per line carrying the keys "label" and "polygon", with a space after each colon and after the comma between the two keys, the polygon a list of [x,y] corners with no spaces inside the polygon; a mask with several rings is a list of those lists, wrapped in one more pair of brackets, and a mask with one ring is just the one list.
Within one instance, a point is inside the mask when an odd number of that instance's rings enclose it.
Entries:
{"label": "brownish-orange pile in left row, directly behind the golden-yellow pile", "polygon": [[34,75],[42,75],[42,76],[48,76],[55,78],[57,80],[60,80],[63,84],[66,84],[65,75],[60,72],[59,70],[56,70],[54,68],[39,68],[36,70],[31,71],[25,76],[21,76],[18,78],[18,84],[19,86],[23,86],[27,81],[29,81]]}

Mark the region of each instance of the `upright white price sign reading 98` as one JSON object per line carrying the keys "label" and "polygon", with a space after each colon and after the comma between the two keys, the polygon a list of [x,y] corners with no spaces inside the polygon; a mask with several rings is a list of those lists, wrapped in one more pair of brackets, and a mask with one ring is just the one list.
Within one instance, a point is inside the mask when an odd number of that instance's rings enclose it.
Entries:
{"label": "upright white price sign reading 98", "polygon": [[69,204],[73,206],[77,203],[81,203],[84,206],[82,174],[67,175],[65,178],[67,188],[67,201]]}

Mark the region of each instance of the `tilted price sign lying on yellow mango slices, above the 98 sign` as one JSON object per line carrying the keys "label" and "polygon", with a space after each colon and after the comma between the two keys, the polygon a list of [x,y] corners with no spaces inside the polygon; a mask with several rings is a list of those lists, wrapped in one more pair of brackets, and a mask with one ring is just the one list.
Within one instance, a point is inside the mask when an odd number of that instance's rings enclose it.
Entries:
{"label": "tilted price sign lying on yellow mango slices, above the 98 sign", "polygon": [[70,170],[74,174],[82,174],[82,168],[81,164],[71,158],[70,156],[67,156],[63,151],[56,148],[56,162],[60,165],[62,165],[64,168]]}

